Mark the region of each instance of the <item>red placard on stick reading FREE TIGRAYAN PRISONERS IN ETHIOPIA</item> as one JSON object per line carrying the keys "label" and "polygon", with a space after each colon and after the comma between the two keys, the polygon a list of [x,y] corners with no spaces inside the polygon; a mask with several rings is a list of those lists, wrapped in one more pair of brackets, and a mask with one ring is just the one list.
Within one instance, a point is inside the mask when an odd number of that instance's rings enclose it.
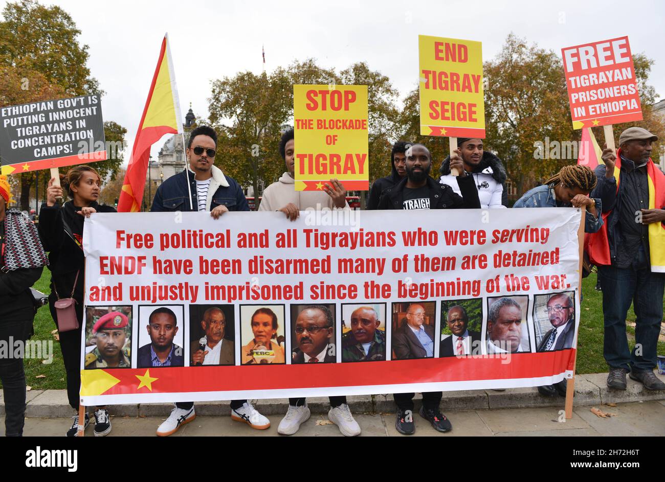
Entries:
{"label": "red placard on stick reading FREE TIGRAYAN PRISONERS IN ETHIOPIA", "polygon": [[603,126],[614,150],[612,124],[642,120],[628,37],[561,49],[573,128]]}

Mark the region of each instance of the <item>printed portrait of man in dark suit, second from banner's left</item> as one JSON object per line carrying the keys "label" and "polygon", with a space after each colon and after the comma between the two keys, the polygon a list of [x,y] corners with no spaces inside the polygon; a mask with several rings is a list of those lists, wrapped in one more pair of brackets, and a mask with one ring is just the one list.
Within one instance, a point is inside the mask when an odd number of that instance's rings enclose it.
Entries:
{"label": "printed portrait of man in dark suit, second from banner's left", "polygon": [[150,343],[138,349],[138,368],[185,365],[182,347],[173,342],[178,333],[177,323],[176,314],[166,306],[150,313],[146,326]]}

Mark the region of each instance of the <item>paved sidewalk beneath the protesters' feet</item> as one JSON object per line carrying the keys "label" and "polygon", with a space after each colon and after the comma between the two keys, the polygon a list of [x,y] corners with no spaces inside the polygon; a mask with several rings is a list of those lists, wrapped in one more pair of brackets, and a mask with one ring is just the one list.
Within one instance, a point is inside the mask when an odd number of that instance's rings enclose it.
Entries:
{"label": "paved sidewalk beneath the protesters' feet", "polygon": [[[598,418],[591,413],[591,406],[579,406],[573,410],[573,418],[559,422],[558,408],[514,408],[497,410],[453,410],[444,412],[453,424],[450,433],[438,433],[429,423],[416,415],[415,436],[663,436],[665,435],[665,401],[630,402],[616,407],[596,406],[603,412],[616,414],[611,418]],[[109,436],[155,436],[157,427],[166,418],[156,416],[112,417],[112,432]],[[362,428],[362,435],[376,437],[403,436],[395,430],[394,412],[388,414],[355,414]],[[173,437],[196,436],[278,436],[280,416],[271,416],[271,427],[253,430],[244,423],[233,422],[229,416],[198,416],[184,425]],[[320,423],[324,424],[320,424]],[[340,437],[336,425],[328,422],[323,414],[312,414],[294,436]],[[71,419],[27,418],[26,436],[61,437],[65,435]],[[0,435],[4,435],[5,423],[0,418]],[[86,430],[92,436],[92,425]]]}

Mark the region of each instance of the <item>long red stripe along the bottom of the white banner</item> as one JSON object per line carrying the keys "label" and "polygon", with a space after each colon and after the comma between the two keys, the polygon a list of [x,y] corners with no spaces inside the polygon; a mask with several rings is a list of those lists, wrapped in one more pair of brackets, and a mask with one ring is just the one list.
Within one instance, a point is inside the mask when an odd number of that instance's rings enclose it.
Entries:
{"label": "long red stripe along the bottom of the white banner", "polygon": [[[504,354],[505,355],[505,354]],[[495,355],[498,356],[498,355]],[[464,357],[299,365],[197,366],[147,368],[152,390],[138,384],[146,368],[104,370],[118,378],[102,395],[137,393],[285,390],[336,386],[372,386],[539,378],[572,370],[575,349],[518,353],[510,358]]]}

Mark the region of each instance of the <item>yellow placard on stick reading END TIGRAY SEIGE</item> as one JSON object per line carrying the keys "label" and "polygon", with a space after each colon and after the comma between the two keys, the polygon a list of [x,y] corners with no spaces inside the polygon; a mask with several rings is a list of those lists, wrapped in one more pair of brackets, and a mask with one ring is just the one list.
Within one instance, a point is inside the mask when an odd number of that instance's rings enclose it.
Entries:
{"label": "yellow placard on stick reading END TIGRAY SEIGE", "polygon": [[448,136],[452,156],[458,137],[485,138],[482,45],[419,35],[418,47],[420,134]]}

